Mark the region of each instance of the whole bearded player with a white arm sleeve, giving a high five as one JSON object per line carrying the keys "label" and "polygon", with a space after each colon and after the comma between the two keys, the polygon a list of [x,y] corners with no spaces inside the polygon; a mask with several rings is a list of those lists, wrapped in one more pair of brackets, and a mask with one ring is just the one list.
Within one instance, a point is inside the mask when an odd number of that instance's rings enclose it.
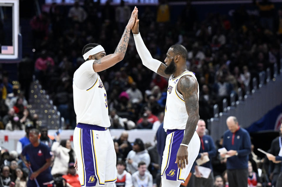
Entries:
{"label": "whole bearded player with a white arm sleeve, giving a high five", "polygon": [[165,64],[152,58],[139,33],[137,16],[132,32],[143,65],[169,78],[164,115],[167,139],[161,186],[180,186],[188,177],[200,149],[200,139],[195,131],[199,120],[199,85],[194,73],[187,70],[187,49],[184,46],[171,46]]}

